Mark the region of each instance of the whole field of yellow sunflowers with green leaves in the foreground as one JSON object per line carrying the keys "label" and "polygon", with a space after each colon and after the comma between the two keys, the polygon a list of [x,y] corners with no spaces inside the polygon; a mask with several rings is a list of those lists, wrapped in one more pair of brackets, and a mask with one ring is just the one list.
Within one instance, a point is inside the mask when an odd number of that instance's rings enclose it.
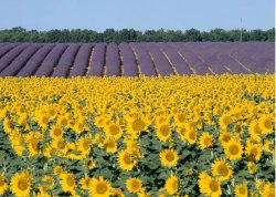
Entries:
{"label": "whole field of yellow sunflowers with green leaves in the foreground", "polygon": [[275,196],[274,74],[0,79],[0,196]]}

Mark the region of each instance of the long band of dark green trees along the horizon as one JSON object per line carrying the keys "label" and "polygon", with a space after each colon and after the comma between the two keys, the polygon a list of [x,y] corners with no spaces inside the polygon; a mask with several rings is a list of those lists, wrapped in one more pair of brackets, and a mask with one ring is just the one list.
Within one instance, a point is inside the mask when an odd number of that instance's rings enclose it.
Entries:
{"label": "long band of dark green trees along the horizon", "polygon": [[104,32],[93,30],[25,30],[21,27],[0,30],[0,42],[203,42],[203,41],[275,41],[275,28],[269,30],[223,30],[213,29],[209,32],[189,29],[147,30],[145,32],[134,29],[114,30]]}

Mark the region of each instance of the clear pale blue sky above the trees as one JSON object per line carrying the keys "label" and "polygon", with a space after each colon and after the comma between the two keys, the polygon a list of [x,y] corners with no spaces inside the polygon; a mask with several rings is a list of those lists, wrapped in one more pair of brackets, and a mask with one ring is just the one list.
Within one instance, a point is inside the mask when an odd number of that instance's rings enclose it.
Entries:
{"label": "clear pale blue sky above the trees", "polygon": [[267,30],[274,9],[274,0],[0,0],[0,30]]}

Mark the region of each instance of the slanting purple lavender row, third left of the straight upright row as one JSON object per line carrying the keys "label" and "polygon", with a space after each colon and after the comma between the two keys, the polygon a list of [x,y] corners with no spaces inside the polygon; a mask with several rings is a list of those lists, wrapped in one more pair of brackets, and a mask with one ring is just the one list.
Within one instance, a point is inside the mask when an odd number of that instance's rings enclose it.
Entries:
{"label": "slanting purple lavender row, third left of the straight upright row", "polygon": [[75,55],[79,49],[79,44],[70,44],[65,52],[62,54],[54,72],[53,77],[65,77],[70,73],[71,66],[74,64]]}

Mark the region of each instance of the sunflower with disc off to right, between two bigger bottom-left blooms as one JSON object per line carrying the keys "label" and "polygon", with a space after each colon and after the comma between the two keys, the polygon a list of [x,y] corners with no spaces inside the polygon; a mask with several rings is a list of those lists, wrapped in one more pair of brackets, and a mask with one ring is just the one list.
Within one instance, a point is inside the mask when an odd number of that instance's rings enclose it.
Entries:
{"label": "sunflower with disc off to right, between two bigger bottom-left blooms", "polygon": [[76,187],[76,183],[75,183],[75,177],[72,173],[62,173],[60,175],[61,178],[61,185],[62,185],[62,190],[65,193],[75,193],[75,187]]}

